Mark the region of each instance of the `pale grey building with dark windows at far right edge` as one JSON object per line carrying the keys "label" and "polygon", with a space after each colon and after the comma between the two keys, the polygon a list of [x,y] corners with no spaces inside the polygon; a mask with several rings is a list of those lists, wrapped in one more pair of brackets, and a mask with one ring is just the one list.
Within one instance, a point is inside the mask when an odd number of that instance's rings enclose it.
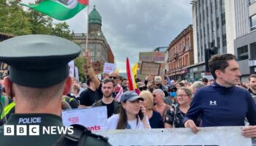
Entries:
{"label": "pale grey building with dark windows at far right edge", "polygon": [[241,71],[242,82],[256,72],[256,1],[234,0],[236,39],[235,54]]}

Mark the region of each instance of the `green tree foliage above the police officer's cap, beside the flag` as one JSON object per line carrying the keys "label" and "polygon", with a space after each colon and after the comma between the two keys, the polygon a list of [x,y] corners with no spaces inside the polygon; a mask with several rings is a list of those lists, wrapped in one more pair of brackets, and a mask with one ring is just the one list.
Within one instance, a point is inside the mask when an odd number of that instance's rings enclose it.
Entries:
{"label": "green tree foliage above the police officer's cap, beside the flag", "polygon": [[18,36],[49,34],[72,39],[67,23],[54,24],[53,18],[34,9],[24,11],[18,3],[18,0],[0,0],[0,32]]}

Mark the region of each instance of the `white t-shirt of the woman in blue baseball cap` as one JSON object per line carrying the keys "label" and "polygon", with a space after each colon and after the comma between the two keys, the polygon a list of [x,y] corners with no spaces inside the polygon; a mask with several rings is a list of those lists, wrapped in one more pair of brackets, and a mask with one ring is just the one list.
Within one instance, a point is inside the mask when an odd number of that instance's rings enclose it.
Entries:
{"label": "white t-shirt of the woman in blue baseball cap", "polygon": [[[135,120],[128,120],[129,126],[131,126],[132,129],[136,129],[136,128],[145,128],[143,122],[139,119],[139,122],[137,124],[137,119]],[[112,115],[110,118],[108,118],[108,129],[116,129],[117,123],[119,120],[119,114],[117,115]],[[151,128],[151,126],[149,125],[149,121],[148,121],[148,117],[146,117],[146,121],[148,124],[148,127]]]}

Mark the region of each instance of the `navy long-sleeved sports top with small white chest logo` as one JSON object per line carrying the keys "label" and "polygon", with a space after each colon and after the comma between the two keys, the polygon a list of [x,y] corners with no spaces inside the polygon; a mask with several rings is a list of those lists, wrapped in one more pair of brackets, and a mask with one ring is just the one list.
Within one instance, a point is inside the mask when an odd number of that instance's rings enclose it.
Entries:
{"label": "navy long-sleeved sports top with small white chest logo", "polygon": [[195,93],[183,122],[189,119],[195,122],[199,115],[203,127],[244,126],[245,118],[251,126],[256,125],[256,105],[250,93],[236,86],[222,87],[217,82]]}

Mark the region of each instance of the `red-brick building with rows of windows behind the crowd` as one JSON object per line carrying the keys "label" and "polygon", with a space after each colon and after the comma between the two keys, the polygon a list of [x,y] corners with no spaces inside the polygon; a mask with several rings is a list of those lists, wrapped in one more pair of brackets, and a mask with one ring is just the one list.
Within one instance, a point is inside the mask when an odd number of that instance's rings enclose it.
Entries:
{"label": "red-brick building with rows of windows behind the crowd", "polygon": [[170,42],[168,47],[168,76],[172,80],[187,80],[187,66],[194,64],[193,28],[189,25]]}

